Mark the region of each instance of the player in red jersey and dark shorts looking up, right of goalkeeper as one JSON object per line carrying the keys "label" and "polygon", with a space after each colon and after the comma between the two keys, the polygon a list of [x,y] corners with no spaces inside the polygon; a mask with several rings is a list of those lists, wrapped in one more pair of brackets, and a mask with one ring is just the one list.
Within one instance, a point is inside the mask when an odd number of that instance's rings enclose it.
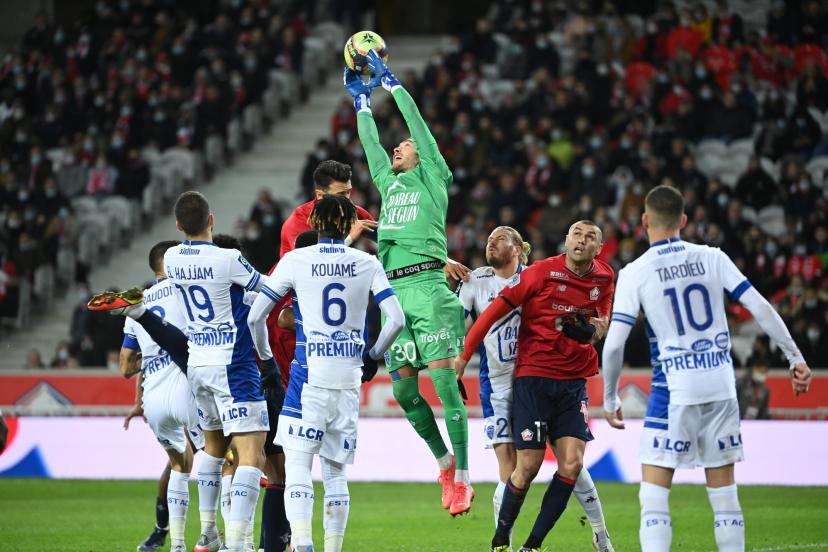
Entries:
{"label": "player in red jersey and dark shorts looking up, right of goalkeeper", "polygon": [[595,259],[602,233],[594,222],[573,224],[565,245],[566,253],[515,274],[471,327],[465,352],[457,357],[460,377],[491,325],[511,310],[522,309],[512,407],[517,466],[503,493],[493,551],[510,549],[512,527],[543,463],[548,440],[557,453],[558,471],[519,552],[540,549],[566,508],[583,467],[586,442],[592,440],[586,378],[598,373],[593,343],[604,337],[609,326],[614,273]]}

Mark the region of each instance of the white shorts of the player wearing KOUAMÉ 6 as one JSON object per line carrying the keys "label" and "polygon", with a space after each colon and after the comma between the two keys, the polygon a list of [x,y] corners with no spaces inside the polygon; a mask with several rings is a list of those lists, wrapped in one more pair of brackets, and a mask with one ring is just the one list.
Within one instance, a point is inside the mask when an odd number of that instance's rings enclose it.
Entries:
{"label": "white shorts of the player wearing KOUAM\u00c9 6", "polygon": [[359,388],[323,389],[307,383],[297,385],[301,385],[301,391],[297,389],[301,407],[282,408],[273,442],[288,450],[353,464]]}

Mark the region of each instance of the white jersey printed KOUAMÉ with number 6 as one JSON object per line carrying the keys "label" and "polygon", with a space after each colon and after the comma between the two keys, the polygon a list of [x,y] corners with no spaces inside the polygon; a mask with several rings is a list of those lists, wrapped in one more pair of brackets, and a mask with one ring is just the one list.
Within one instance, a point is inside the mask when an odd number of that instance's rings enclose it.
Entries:
{"label": "white jersey printed KOUAM\u00c9 with number 6", "polygon": [[303,378],[315,387],[358,388],[369,292],[377,304],[394,294],[380,262],[342,242],[320,240],[282,257],[260,293],[278,303],[291,289],[296,319],[291,381]]}

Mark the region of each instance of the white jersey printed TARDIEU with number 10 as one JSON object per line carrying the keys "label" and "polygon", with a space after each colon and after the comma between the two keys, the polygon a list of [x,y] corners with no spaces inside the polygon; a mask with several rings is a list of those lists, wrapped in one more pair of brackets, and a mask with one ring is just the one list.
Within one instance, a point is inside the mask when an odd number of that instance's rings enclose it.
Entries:
{"label": "white jersey printed TARDIEU with number 10", "polygon": [[679,238],[654,243],[618,274],[612,321],[630,326],[644,310],[656,372],[674,405],[736,397],[725,293],[750,282],[720,249]]}

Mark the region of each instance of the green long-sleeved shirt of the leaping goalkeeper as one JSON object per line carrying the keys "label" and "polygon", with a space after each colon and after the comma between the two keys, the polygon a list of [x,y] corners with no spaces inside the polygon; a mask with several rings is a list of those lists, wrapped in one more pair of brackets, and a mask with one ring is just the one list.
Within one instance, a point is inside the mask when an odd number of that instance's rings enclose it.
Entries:
{"label": "green long-sleeved shirt of the leaping goalkeeper", "polygon": [[[380,144],[371,111],[363,109],[357,113],[359,139],[365,148],[371,178],[382,198],[378,255],[386,270],[434,259],[445,263],[446,212],[452,174],[411,95],[397,87],[392,96],[411,132],[420,162],[410,171],[395,174]],[[445,281],[442,271],[428,271],[401,280],[431,278]]]}

